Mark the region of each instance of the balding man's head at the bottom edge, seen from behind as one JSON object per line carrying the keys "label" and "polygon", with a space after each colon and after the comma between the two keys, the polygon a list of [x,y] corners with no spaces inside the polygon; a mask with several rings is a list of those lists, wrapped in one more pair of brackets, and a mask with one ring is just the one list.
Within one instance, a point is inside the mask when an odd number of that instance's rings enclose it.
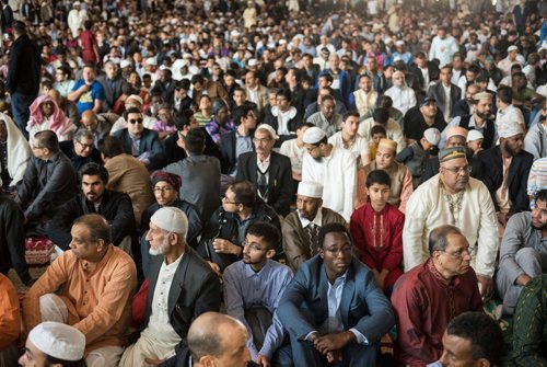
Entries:
{"label": "balding man's head at the bottom edge, seen from behind", "polygon": [[247,331],[236,319],[218,312],[199,316],[188,330],[188,346],[160,367],[258,366],[245,345]]}

